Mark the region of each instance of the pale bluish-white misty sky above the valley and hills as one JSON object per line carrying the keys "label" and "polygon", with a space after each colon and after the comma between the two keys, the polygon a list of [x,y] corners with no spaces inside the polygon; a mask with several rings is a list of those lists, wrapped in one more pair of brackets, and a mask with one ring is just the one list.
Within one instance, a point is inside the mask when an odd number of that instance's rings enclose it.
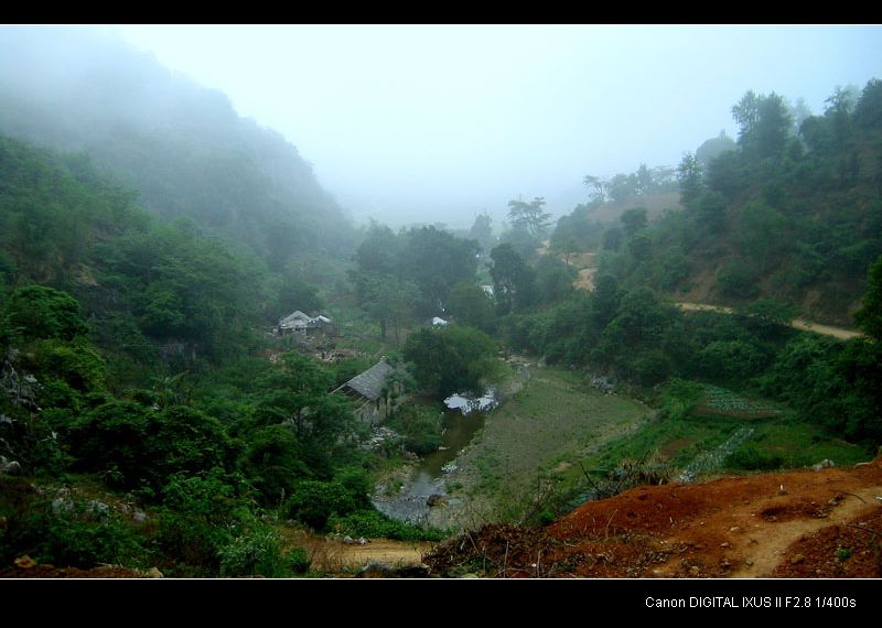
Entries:
{"label": "pale bluish-white misty sky above the valley and hills", "polygon": [[356,219],[471,225],[518,194],[556,214],[588,174],[675,165],[747,89],[882,78],[880,26],[122,26],[280,131]]}

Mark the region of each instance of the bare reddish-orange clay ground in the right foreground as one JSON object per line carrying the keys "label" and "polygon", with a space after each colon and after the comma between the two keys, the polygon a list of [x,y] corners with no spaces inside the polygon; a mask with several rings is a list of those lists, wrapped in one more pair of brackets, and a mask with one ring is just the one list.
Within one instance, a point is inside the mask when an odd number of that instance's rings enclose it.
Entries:
{"label": "bare reddish-orange clay ground in the right foreground", "polygon": [[440,545],[434,573],[545,577],[880,576],[882,458],[639,487],[545,529],[487,527]]}

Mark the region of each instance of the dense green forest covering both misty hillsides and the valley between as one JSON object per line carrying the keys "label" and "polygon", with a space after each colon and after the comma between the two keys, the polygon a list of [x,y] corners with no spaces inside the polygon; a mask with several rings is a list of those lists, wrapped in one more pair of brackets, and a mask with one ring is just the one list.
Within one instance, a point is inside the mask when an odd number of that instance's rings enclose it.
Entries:
{"label": "dense green forest covering both misty hillsides and the valley between", "polygon": [[[487,214],[359,231],[222,94],[112,40],[25,34],[0,32],[21,62],[0,59],[0,567],[290,576],[310,570],[292,527],[443,538],[376,510],[377,474],[437,451],[439,401],[510,380],[513,353],[645,400],[649,430],[712,388],[867,456],[882,443],[880,80],[800,120],[747,93],[736,141],[676,173],[588,175],[553,228],[542,197],[518,197],[498,237]],[[615,223],[596,218],[610,201]],[[294,310],[333,314],[337,345],[283,336]],[[400,438],[376,447],[335,391],[378,361]],[[747,443],[730,468],[784,464]]]}

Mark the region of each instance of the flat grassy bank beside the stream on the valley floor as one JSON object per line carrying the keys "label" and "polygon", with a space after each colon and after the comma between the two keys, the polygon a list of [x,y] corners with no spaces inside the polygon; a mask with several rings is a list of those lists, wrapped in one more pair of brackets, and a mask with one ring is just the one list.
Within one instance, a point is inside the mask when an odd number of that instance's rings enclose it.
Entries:
{"label": "flat grassy bank beside the stream on the valley floor", "polygon": [[576,461],[634,432],[650,414],[638,401],[593,389],[583,373],[534,368],[460,456],[448,480],[451,506],[433,509],[430,522],[473,528],[517,521]]}

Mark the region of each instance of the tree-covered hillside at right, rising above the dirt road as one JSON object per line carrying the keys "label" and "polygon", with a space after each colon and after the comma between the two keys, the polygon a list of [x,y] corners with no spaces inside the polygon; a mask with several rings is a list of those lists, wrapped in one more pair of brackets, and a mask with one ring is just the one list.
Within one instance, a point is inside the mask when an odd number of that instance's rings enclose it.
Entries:
{"label": "tree-covered hillside at right, rising above the dirt road", "polygon": [[679,164],[685,210],[647,223],[635,198],[601,235],[581,208],[552,241],[602,251],[600,273],[626,286],[679,301],[773,297],[811,320],[850,324],[882,253],[882,82],[837,88],[824,115],[803,120],[774,93],[749,91],[732,115],[736,143],[709,140]]}

